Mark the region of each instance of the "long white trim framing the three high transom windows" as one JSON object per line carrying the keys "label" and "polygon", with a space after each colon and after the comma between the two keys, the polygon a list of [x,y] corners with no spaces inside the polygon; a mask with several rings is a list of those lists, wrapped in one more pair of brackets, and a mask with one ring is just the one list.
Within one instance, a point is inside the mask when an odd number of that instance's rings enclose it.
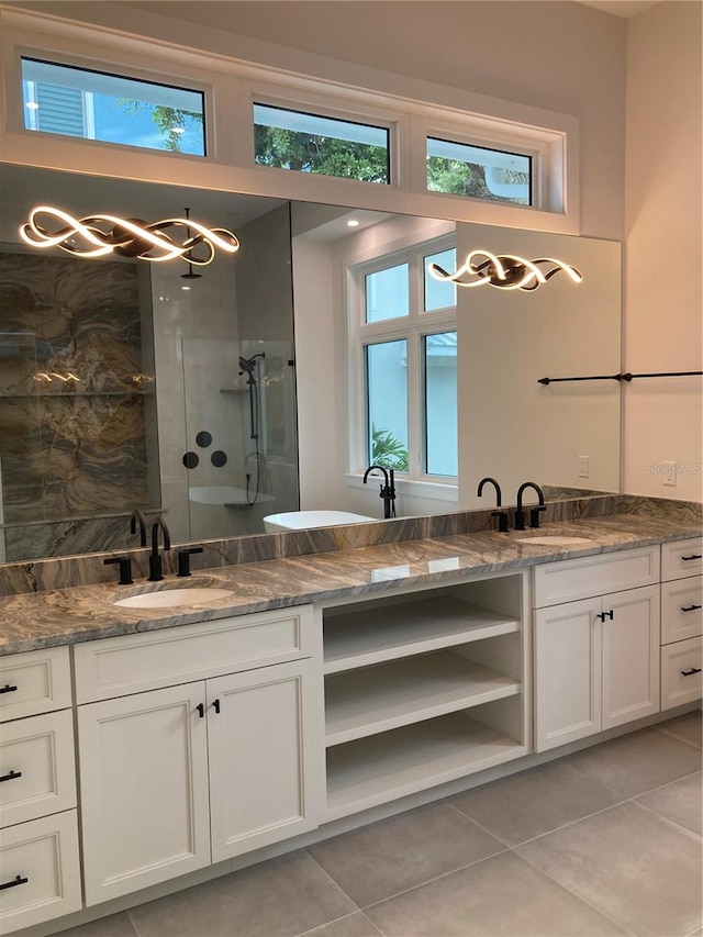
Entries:
{"label": "long white trim framing the three high transom windows", "polygon": [[[110,11],[102,20],[110,19]],[[156,19],[156,18],[154,18]],[[136,23],[134,18],[125,16]],[[332,64],[324,57],[287,49],[287,68],[280,47],[227,35],[227,53],[193,49],[160,37],[136,35],[123,23],[111,27],[63,21],[58,16],[0,7],[3,26],[1,62],[7,87],[0,126],[0,148],[9,163],[43,166],[77,172],[96,172],[143,181],[192,185],[192,163],[208,164],[211,171],[198,180],[209,189],[238,191],[353,208],[473,221],[555,233],[578,234],[578,119],[544,109],[444,86],[423,82],[349,63]],[[141,21],[140,26],[141,29]],[[154,29],[154,26],[150,26]],[[165,34],[169,31],[165,26]],[[219,41],[220,37],[216,37]],[[213,40],[214,41],[214,40]],[[90,57],[86,56],[90,48]],[[252,56],[235,58],[228,49]],[[20,52],[21,51],[21,52]],[[131,148],[52,135],[52,145],[37,157],[36,133],[24,130],[20,54],[111,70],[144,80],[175,83],[205,93],[205,157]],[[254,60],[256,59],[256,62]],[[143,63],[150,67],[144,68]],[[357,112],[378,123],[383,114],[393,124],[392,180],[380,186],[313,174],[254,167],[250,103],[265,89],[286,100],[288,107],[315,99],[325,110]],[[371,90],[373,89],[373,90]],[[402,89],[399,91],[399,89]],[[409,97],[409,91],[414,97]],[[428,193],[424,167],[424,138],[456,127],[477,144],[499,142],[505,134],[532,138],[542,135],[550,165],[549,185],[543,198],[549,210],[510,205],[446,193]],[[29,138],[27,138],[29,137]],[[451,138],[459,140],[455,132]],[[537,141],[538,142],[538,141]],[[291,178],[295,177],[295,178]],[[302,177],[302,178],[301,178]]]}

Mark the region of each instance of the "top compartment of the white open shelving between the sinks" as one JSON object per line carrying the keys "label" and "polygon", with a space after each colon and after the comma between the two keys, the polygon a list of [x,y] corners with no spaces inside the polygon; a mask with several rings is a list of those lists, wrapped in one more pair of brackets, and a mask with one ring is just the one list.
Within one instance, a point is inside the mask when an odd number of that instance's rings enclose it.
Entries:
{"label": "top compartment of the white open shelving between the sinks", "polygon": [[520,631],[520,620],[450,595],[325,616],[324,672]]}

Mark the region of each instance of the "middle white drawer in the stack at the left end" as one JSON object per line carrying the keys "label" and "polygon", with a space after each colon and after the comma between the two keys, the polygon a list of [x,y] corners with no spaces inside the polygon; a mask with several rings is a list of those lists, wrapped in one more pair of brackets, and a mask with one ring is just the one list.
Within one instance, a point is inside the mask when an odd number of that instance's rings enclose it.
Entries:
{"label": "middle white drawer in the stack at the left end", "polygon": [[0,735],[0,826],[75,806],[71,711],[4,725]]}

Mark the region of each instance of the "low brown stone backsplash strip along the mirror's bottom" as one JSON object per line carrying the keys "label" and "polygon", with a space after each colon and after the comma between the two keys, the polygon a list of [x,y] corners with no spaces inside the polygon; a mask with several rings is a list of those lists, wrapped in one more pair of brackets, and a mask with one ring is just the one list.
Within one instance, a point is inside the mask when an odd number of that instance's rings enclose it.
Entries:
{"label": "low brown stone backsplash strip along the mirror's bottom", "polygon": [[[513,523],[512,509],[507,509]],[[698,502],[669,501],[628,494],[606,494],[550,502],[543,523],[559,523],[609,515],[637,514],[652,520],[673,520],[700,525],[703,505]],[[423,517],[398,518],[368,524],[263,534],[203,542],[204,550],[192,557],[192,569],[215,569],[245,562],[283,557],[354,549],[381,544],[483,533],[494,528],[491,511],[458,511]],[[164,557],[164,572],[170,575],[177,564],[177,548]],[[131,550],[135,580],[148,575],[148,551]],[[71,585],[110,582],[114,570],[103,564],[105,554],[0,565],[0,595],[42,592]]]}

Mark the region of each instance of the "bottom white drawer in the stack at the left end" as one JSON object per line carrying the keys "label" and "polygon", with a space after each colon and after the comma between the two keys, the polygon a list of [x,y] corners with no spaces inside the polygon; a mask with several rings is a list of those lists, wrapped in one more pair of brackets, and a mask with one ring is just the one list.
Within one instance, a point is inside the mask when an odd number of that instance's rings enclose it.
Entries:
{"label": "bottom white drawer in the stack at the left end", "polygon": [[2,934],[80,910],[76,811],[2,832],[0,885],[8,884],[0,891]]}

